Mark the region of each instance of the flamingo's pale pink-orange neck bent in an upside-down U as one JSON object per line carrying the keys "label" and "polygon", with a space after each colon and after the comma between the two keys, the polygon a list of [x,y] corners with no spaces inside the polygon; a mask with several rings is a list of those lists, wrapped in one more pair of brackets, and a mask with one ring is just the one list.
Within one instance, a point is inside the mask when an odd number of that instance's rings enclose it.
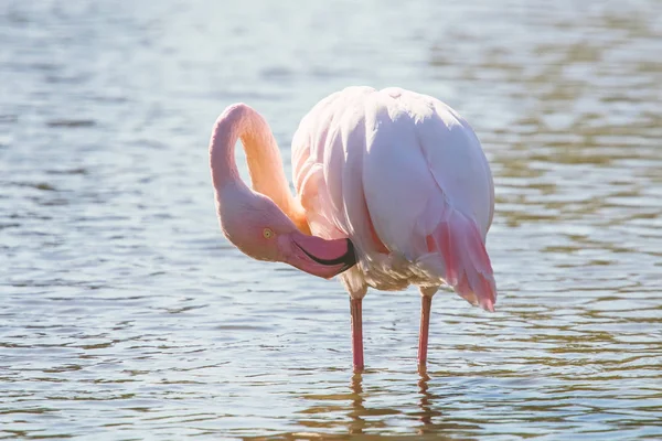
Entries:
{"label": "flamingo's pale pink-orange neck bent in an upside-down U", "polygon": [[245,104],[229,106],[214,125],[210,165],[217,195],[227,184],[245,185],[235,161],[234,149],[238,139],[246,152],[253,190],[274,201],[301,232],[310,234],[303,208],[290,193],[280,151],[269,125]]}

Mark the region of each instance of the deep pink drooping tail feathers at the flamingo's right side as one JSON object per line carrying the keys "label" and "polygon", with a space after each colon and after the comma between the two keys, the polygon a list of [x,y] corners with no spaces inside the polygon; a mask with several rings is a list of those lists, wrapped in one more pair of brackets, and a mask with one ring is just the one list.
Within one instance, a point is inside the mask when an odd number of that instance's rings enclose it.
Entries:
{"label": "deep pink drooping tail feathers at the flamingo's right side", "polygon": [[444,259],[444,280],[471,304],[494,311],[496,286],[490,257],[476,222],[456,209],[427,237],[429,251]]}

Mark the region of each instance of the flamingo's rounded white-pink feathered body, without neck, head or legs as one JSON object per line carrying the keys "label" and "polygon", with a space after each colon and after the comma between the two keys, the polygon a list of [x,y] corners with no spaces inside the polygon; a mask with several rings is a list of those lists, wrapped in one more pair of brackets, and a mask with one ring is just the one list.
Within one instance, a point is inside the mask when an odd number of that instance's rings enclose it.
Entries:
{"label": "flamingo's rounded white-pink feathered body, without neck, head or legs", "polygon": [[492,309],[492,174],[449,106],[401,88],[332,94],[301,120],[292,170],[312,234],[354,244],[359,263],[341,276],[351,295],[446,283]]}

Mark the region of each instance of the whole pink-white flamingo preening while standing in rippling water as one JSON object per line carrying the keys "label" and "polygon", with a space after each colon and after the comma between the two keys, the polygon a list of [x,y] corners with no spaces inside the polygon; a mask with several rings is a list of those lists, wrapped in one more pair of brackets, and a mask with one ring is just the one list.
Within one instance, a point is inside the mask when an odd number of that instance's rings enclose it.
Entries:
{"label": "whole pink-white flamingo preening while standing in rippling water", "polygon": [[[253,189],[234,159],[241,139]],[[348,87],[318,103],[292,139],[292,196],[266,120],[234,104],[210,141],[225,237],[258,260],[340,279],[350,295],[354,370],[364,368],[362,301],[372,287],[421,298],[425,368],[433,295],[449,286],[494,311],[485,237],[494,186],[480,141],[442,101],[402,88]]]}

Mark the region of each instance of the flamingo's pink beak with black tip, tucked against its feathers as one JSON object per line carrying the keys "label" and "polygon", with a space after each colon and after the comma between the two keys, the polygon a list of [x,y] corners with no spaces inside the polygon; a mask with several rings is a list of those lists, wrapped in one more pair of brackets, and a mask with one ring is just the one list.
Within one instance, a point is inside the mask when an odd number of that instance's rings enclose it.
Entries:
{"label": "flamingo's pink beak with black tip, tucked against its feathers", "polygon": [[331,279],[356,265],[354,245],[350,239],[322,239],[296,234],[293,254],[288,263],[310,275]]}

